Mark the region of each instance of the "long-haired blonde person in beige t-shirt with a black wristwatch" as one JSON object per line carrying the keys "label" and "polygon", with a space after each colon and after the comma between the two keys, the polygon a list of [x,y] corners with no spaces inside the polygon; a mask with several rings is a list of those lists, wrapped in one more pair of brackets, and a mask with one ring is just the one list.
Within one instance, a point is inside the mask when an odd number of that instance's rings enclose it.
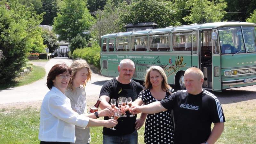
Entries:
{"label": "long-haired blonde person in beige t-shirt with a black wristwatch", "polygon": [[[91,80],[92,72],[88,63],[83,59],[77,59],[71,64],[72,74],[68,89],[65,91],[66,96],[70,99],[71,108],[79,115],[85,114],[90,118],[97,119],[100,116],[111,116],[113,110],[106,108],[99,112],[88,114],[86,111],[86,92],[85,86]],[[76,144],[90,143],[90,128],[76,126]]]}

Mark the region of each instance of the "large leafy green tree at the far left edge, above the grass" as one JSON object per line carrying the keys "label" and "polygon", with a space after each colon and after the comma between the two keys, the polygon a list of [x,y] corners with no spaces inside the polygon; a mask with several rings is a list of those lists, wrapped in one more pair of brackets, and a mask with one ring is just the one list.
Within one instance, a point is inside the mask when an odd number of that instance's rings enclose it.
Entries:
{"label": "large leafy green tree at the far left edge, above the grass", "polygon": [[0,1],[0,84],[14,79],[25,65],[31,38],[41,20],[42,15],[36,15],[33,7],[16,0]]}

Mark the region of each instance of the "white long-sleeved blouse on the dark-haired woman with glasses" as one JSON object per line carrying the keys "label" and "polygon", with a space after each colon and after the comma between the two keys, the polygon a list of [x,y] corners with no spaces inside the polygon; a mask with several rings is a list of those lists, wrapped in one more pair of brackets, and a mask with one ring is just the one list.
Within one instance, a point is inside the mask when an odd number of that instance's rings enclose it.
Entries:
{"label": "white long-sleeved blouse on the dark-haired woman with glasses", "polygon": [[76,113],[70,99],[53,86],[42,102],[38,139],[75,142],[75,125],[85,128],[88,122],[89,118]]}

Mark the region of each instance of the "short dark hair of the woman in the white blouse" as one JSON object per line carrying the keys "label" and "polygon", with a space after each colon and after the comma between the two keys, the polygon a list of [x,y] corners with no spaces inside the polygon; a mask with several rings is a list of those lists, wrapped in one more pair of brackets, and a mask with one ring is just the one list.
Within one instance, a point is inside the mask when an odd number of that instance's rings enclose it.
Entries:
{"label": "short dark hair of the woman in the white blouse", "polygon": [[52,89],[52,86],[53,86],[52,81],[56,78],[56,76],[66,73],[67,71],[71,75],[71,72],[72,72],[71,68],[69,68],[65,63],[54,65],[51,68],[51,70],[49,71],[48,76],[47,76],[46,85],[47,85],[48,89],[50,89],[50,90]]}

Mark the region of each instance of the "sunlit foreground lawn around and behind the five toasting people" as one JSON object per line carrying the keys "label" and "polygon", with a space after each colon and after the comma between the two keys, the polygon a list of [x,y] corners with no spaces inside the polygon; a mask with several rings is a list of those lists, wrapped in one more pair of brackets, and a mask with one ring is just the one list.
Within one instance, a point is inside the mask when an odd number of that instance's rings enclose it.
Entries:
{"label": "sunlit foreground lawn around and behind the five toasting people", "polygon": [[[256,143],[256,104],[249,101],[222,105],[226,122],[217,144]],[[1,144],[36,144],[38,140],[39,110],[0,109]],[[139,144],[144,143],[144,126],[138,131]],[[91,144],[102,143],[102,127],[91,128]]]}

